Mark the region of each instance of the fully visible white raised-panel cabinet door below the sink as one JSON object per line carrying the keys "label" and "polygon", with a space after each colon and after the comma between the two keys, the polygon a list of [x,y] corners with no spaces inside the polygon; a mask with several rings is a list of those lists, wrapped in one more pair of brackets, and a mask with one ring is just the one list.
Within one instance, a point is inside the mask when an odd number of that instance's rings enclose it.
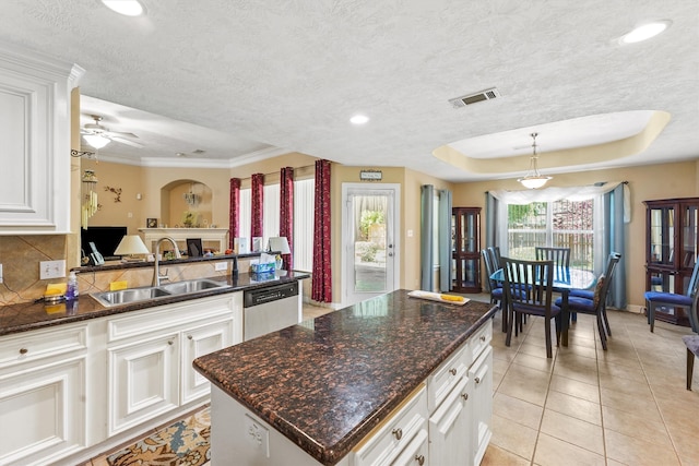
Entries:
{"label": "fully visible white raised-panel cabinet door below the sink", "polygon": [[107,351],[109,435],[178,406],[177,332]]}

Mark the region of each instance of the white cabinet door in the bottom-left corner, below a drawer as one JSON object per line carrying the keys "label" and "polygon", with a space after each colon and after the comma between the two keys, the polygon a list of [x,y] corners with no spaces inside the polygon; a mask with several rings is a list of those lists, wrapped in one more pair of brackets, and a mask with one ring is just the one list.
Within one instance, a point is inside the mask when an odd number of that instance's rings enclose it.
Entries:
{"label": "white cabinet door in the bottom-left corner, below a drawer", "polygon": [[85,446],[85,356],[0,377],[0,464],[45,465]]}

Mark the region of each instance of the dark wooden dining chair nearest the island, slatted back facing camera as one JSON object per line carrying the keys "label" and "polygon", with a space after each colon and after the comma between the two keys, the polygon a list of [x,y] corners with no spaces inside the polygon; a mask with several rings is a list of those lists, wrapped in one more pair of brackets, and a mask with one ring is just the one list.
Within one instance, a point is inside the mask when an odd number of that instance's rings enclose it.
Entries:
{"label": "dark wooden dining chair nearest the island, slatted back facing camera", "polygon": [[546,357],[553,357],[550,321],[556,322],[556,346],[560,344],[560,308],[553,302],[554,262],[521,261],[502,258],[505,275],[505,301],[508,308],[508,328],[505,344],[510,346],[512,327],[516,336],[522,315],[538,315],[545,319]]}

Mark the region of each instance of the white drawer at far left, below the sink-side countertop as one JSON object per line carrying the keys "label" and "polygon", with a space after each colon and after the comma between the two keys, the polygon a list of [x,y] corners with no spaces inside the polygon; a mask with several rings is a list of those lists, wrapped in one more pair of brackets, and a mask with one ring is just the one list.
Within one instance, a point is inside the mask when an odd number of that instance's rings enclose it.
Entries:
{"label": "white drawer at far left, below the sink-side countertop", "polygon": [[87,347],[87,325],[60,325],[0,338],[0,368],[63,355]]}

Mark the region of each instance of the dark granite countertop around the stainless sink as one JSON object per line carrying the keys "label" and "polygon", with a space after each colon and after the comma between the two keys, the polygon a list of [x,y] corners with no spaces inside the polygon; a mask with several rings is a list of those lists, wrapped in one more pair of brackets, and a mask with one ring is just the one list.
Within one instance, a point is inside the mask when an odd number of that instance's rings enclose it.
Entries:
{"label": "dark granite countertop around the stainless sink", "polygon": [[209,278],[217,282],[226,282],[230,287],[208,289],[186,296],[164,297],[157,300],[140,301],[109,308],[100,304],[90,295],[81,295],[75,301],[61,302],[60,304],[54,306],[45,306],[44,302],[24,302],[2,306],[0,307],[0,337],[87,319],[138,311],[155,306],[170,304],[246,289],[262,288],[270,285],[308,278],[308,276],[305,272],[287,272],[286,275],[277,275],[274,278],[268,279],[256,279],[256,276],[251,274],[239,274],[236,277],[215,276]]}

